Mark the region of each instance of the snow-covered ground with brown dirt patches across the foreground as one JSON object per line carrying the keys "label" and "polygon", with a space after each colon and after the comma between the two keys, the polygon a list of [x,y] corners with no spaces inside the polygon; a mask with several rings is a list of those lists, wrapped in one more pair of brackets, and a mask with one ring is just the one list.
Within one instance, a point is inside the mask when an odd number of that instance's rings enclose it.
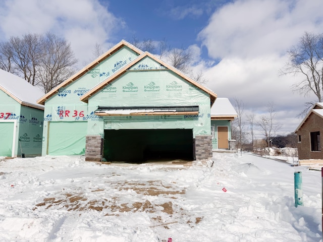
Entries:
{"label": "snow-covered ground with brown dirt patches across the foreground", "polygon": [[0,190],[2,242],[322,241],[320,171],[251,154],[186,164],[0,159]]}

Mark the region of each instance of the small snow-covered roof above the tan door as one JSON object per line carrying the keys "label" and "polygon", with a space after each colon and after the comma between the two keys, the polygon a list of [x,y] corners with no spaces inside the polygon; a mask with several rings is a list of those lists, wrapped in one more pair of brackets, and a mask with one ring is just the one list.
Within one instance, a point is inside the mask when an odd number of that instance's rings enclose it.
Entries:
{"label": "small snow-covered roof above the tan door", "polygon": [[228,98],[218,97],[211,107],[211,119],[233,120],[236,116],[238,113]]}

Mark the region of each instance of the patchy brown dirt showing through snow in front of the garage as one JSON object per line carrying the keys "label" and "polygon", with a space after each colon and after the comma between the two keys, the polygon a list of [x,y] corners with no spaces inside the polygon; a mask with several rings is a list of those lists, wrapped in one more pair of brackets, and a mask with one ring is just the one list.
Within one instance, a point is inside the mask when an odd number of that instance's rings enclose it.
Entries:
{"label": "patchy brown dirt showing through snow in front of the garage", "polygon": [[[38,208],[64,209],[67,211],[95,210],[102,212],[103,216],[122,216],[123,213],[128,212],[144,212],[152,215],[151,220],[154,224],[152,227],[164,226],[166,229],[177,223],[177,219],[180,220],[183,215],[189,214],[177,202],[178,199],[183,198],[186,191],[179,189],[176,183],[163,184],[161,180],[122,180],[113,181],[109,184],[105,183],[107,188],[77,188],[75,191],[69,192],[63,189],[55,197],[48,197],[39,201],[33,210]],[[117,194],[119,195],[110,197],[109,191],[111,190],[118,191]],[[131,194],[133,201],[129,201],[129,194]],[[156,196],[158,196],[157,200]],[[160,201],[162,202],[160,203]],[[155,213],[159,213],[159,215],[153,216]],[[187,221],[189,226],[195,226],[202,220],[202,218],[194,215],[190,217],[191,219]]]}

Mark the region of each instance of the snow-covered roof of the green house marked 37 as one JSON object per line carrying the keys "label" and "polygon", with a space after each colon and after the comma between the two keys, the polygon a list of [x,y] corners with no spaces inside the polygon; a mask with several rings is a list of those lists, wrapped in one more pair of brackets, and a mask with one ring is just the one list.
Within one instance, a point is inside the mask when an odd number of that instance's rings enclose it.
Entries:
{"label": "snow-covered roof of the green house marked 37", "polygon": [[24,106],[44,110],[44,106],[36,102],[44,93],[25,79],[0,69],[0,89]]}

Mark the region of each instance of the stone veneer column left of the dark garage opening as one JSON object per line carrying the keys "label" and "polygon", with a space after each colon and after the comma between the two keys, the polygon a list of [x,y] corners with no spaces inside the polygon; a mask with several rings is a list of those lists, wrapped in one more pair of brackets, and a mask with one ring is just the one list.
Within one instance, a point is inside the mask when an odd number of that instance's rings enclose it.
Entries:
{"label": "stone veneer column left of the dark garage opening", "polygon": [[99,135],[88,135],[85,140],[85,161],[102,161],[102,142]]}

